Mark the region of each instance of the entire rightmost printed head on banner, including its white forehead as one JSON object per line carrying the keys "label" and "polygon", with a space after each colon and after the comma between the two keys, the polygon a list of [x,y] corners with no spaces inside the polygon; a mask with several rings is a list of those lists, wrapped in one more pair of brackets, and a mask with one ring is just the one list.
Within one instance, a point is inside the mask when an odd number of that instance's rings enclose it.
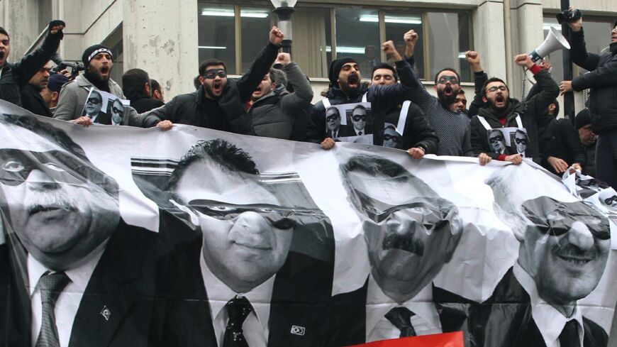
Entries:
{"label": "entire rightmost printed head on banner, including its white forehead", "polygon": [[487,184],[497,214],[521,242],[518,263],[535,281],[540,297],[555,307],[572,305],[587,297],[604,273],[610,226],[606,216],[569,193],[562,193],[561,200],[542,196],[537,190],[550,192],[550,182],[535,189],[515,187],[543,178],[538,172],[507,167]]}

